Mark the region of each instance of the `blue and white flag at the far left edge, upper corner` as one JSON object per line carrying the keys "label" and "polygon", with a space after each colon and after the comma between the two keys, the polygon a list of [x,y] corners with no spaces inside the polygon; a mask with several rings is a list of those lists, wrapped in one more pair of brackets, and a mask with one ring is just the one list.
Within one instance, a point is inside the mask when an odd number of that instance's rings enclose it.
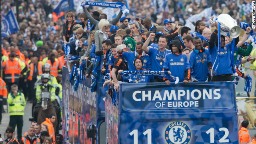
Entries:
{"label": "blue and white flag at the far left edge, upper corner", "polygon": [[3,17],[1,20],[1,25],[2,37],[9,36],[10,34],[20,30],[19,24],[12,10],[10,10],[10,12]]}

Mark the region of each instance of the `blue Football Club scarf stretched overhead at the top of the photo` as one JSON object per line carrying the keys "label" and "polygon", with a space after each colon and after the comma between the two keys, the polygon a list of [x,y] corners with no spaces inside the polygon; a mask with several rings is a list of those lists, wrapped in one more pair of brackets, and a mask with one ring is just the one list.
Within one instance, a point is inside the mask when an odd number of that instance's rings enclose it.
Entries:
{"label": "blue Football Club scarf stretched overhead at the top of the photo", "polygon": [[100,6],[100,7],[107,7],[107,8],[120,8],[123,13],[129,13],[129,10],[126,8],[122,2],[83,2],[81,4],[82,7],[85,5],[89,6]]}

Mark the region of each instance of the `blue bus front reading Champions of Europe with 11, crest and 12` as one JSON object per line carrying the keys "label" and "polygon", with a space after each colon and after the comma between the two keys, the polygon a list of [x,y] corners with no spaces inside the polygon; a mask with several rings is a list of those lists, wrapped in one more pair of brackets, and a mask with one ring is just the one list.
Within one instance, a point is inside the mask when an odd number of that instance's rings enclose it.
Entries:
{"label": "blue bus front reading Champions of Europe with 11, crest and 12", "polygon": [[118,103],[118,144],[238,144],[232,82],[121,84]]}

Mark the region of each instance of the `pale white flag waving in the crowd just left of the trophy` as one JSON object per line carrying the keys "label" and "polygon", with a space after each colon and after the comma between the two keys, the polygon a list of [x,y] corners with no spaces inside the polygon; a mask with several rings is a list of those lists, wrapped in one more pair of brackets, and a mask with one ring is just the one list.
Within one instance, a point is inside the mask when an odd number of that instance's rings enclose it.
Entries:
{"label": "pale white flag waving in the crowd just left of the trophy", "polygon": [[194,28],[194,24],[192,22],[196,22],[198,20],[202,20],[202,17],[204,16],[206,20],[209,20],[210,16],[212,15],[212,7],[204,9],[202,12],[199,14],[194,14],[193,16],[190,16],[186,20],[185,26],[189,28]]}

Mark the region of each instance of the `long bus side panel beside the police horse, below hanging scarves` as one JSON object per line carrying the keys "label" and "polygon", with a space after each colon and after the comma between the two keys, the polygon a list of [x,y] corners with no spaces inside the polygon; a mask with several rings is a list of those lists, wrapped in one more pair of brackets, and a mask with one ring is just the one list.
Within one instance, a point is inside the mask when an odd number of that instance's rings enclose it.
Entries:
{"label": "long bus side panel beside the police horse, below hanging scarves", "polygon": [[[62,68],[62,117],[63,134],[66,144],[91,144],[87,129],[96,125],[96,92],[91,92],[91,79],[82,81],[74,91],[70,83],[68,68]],[[91,128],[91,127],[90,127]]]}

